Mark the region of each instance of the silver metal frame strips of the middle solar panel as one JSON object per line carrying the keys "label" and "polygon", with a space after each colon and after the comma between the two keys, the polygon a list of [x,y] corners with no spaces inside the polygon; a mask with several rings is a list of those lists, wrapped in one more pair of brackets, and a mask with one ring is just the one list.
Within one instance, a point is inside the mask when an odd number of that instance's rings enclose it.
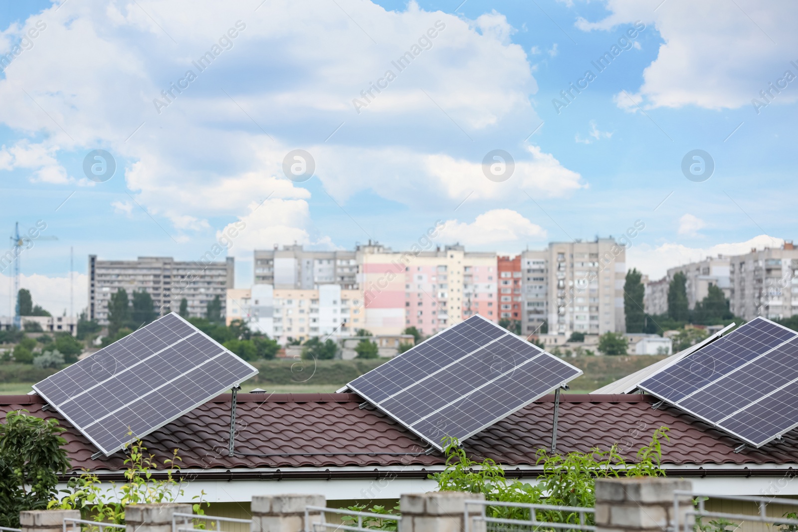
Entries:
{"label": "silver metal frame strips of the middle solar panel", "polygon": [[[491,320],[488,320],[488,318],[486,318],[486,317],[484,317],[484,316],[482,316],[482,315],[480,315],[480,314],[474,314],[474,316],[473,316],[473,317],[471,317],[471,318],[469,318],[469,319],[482,319],[482,320],[484,320],[484,321],[487,321],[489,324],[491,324],[491,325],[493,325],[493,326],[495,326],[495,327],[499,327],[499,325],[496,325],[496,323],[495,323],[495,322],[493,322],[493,321],[491,321]],[[468,321],[468,320],[465,320],[465,321]],[[462,321],[461,323],[464,323],[464,321]],[[458,324],[458,325],[459,325],[459,324]],[[418,344],[418,345],[424,344],[426,341],[430,341],[430,340],[432,340],[433,338],[440,336],[441,334],[447,333],[449,330],[450,330],[450,329],[444,329],[444,330],[442,330],[442,331],[439,331],[438,333],[436,333],[436,334],[434,334],[433,336],[431,336],[431,337],[427,338],[425,341],[421,342],[421,343],[420,343],[420,344]],[[527,365],[527,364],[529,364],[531,361],[534,361],[534,360],[535,360],[535,359],[537,359],[538,357],[551,357],[552,359],[554,359],[555,361],[559,362],[560,364],[563,364],[563,365],[566,365],[566,366],[568,366],[568,367],[570,367],[570,368],[573,368],[573,369],[575,370],[575,372],[576,372],[576,373],[575,373],[575,375],[574,375],[574,376],[571,376],[571,377],[570,377],[570,378],[568,378],[567,380],[563,380],[563,381],[562,381],[562,382],[560,382],[559,384],[555,384],[555,385],[554,385],[554,386],[552,386],[551,388],[547,388],[547,390],[546,390],[545,392],[543,392],[543,393],[540,393],[540,394],[538,394],[538,395],[536,395],[536,396],[533,396],[533,397],[532,397],[530,400],[528,400],[528,401],[524,402],[524,403],[523,403],[523,404],[521,404],[519,407],[517,407],[517,408],[515,408],[515,409],[513,409],[513,410],[511,410],[511,411],[509,411],[509,412],[507,412],[507,413],[505,413],[503,416],[500,416],[500,417],[498,417],[498,418],[495,418],[495,419],[494,419],[494,420],[492,420],[491,422],[489,422],[489,423],[487,423],[487,424],[484,424],[483,426],[481,426],[480,428],[478,428],[476,431],[473,431],[473,432],[469,433],[468,435],[465,435],[465,436],[463,436],[463,437],[460,437],[460,439],[459,439],[459,441],[460,441],[460,442],[464,441],[465,439],[468,439],[468,438],[472,437],[472,435],[475,435],[475,434],[477,434],[477,433],[479,433],[479,432],[482,432],[482,431],[484,431],[484,429],[486,429],[486,428],[488,428],[488,427],[490,427],[490,426],[492,426],[492,425],[494,425],[494,424],[496,424],[496,423],[499,423],[501,420],[504,420],[504,418],[506,418],[506,417],[508,417],[508,416],[512,416],[512,414],[515,414],[516,412],[518,412],[518,411],[519,411],[519,410],[521,410],[522,408],[524,408],[524,407],[527,407],[529,404],[532,404],[532,403],[534,403],[536,400],[539,400],[541,397],[543,397],[543,396],[547,395],[548,393],[551,393],[553,390],[555,390],[555,389],[559,388],[560,386],[563,386],[564,384],[567,384],[567,382],[569,382],[569,381],[571,381],[571,380],[574,380],[576,377],[578,377],[578,376],[580,376],[580,375],[583,375],[583,371],[582,371],[581,369],[577,368],[575,365],[568,364],[566,361],[563,361],[563,360],[562,360],[562,359],[560,359],[559,357],[555,357],[555,356],[554,356],[554,355],[552,355],[551,353],[547,352],[545,349],[541,349],[541,348],[539,348],[537,345],[534,345],[534,344],[532,344],[531,342],[527,341],[526,339],[520,338],[520,337],[516,336],[515,334],[511,333],[510,331],[507,331],[507,333],[506,333],[506,334],[504,334],[504,335],[502,335],[502,336],[500,336],[500,337],[496,337],[496,338],[494,338],[492,341],[489,341],[488,343],[486,343],[486,344],[484,344],[484,345],[480,345],[478,348],[474,349],[473,351],[470,351],[470,352],[468,352],[468,353],[464,354],[464,356],[463,356],[463,357],[460,357],[460,358],[456,359],[455,361],[452,361],[452,362],[450,362],[448,365],[444,365],[444,366],[442,366],[442,367],[438,368],[437,370],[435,370],[435,372],[433,372],[433,373],[429,374],[428,376],[425,376],[425,377],[424,377],[423,379],[421,379],[421,380],[424,380],[424,379],[426,379],[426,378],[429,378],[429,377],[431,377],[431,376],[435,375],[437,372],[440,372],[440,371],[441,371],[442,369],[444,369],[444,368],[448,368],[448,367],[449,367],[449,366],[451,366],[451,365],[455,365],[455,364],[457,364],[458,362],[462,361],[462,360],[463,360],[465,357],[469,357],[470,355],[472,355],[472,353],[476,353],[476,351],[478,351],[479,349],[484,349],[484,347],[486,347],[486,346],[488,346],[488,345],[491,345],[491,344],[494,344],[494,343],[496,343],[497,341],[499,341],[501,338],[505,338],[505,337],[508,337],[508,336],[515,337],[515,338],[519,339],[520,341],[523,341],[525,344],[529,345],[530,347],[532,347],[532,348],[534,348],[534,349],[538,349],[538,350],[540,351],[539,355],[537,355],[537,356],[535,356],[535,357],[532,357],[532,358],[531,358],[531,359],[529,359],[528,361],[524,361],[523,363],[521,363],[521,364],[519,364],[519,365],[516,365],[516,366],[514,366],[514,367],[513,367],[512,369],[510,369],[508,372],[504,372],[502,375],[500,375],[500,376],[496,377],[496,379],[488,380],[488,382],[486,382],[486,383],[484,383],[484,384],[480,384],[480,386],[478,386],[478,387],[476,387],[476,388],[473,388],[473,389],[472,389],[472,390],[470,390],[468,393],[466,393],[466,394],[464,394],[464,395],[462,395],[462,396],[459,396],[459,397],[457,397],[457,398],[456,398],[456,400],[452,400],[452,401],[451,401],[451,402],[449,402],[448,404],[445,404],[444,406],[442,406],[442,407],[440,407],[440,408],[437,408],[437,410],[436,410],[435,412],[440,412],[440,410],[443,410],[444,408],[447,408],[447,407],[451,406],[452,404],[456,403],[456,401],[458,401],[458,400],[461,400],[461,399],[463,399],[464,397],[467,397],[467,396],[471,395],[472,393],[474,393],[474,392],[478,391],[480,388],[484,388],[485,386],[488,386],[488,384],[492,384],[492,383],[496,382],[496,380],[499,380],[499,379],[500,379],[502,376],[504,376],[504,375],[507,375],[509,372],[513,372],[513,371],[515,371],[517,368],[520,368],[520,367],[522,367],[523,365]],[[413,347],[415,347],[415,346],[413,346]],[[405,352],[405,353],[408,353],[408,352]],[[403,355],[405,355],[405,353],[401,353],[401,354],[397,355],[396,357],[393,357],[393,359],[392,359],[392,360],[397,360],[399,357],[402,357]],[[389,363],[390,363],[390,362],[386,362],[386,364],[389,364]],[[374,371],[374,370],[371,370],[371,371]],[[368,373],[368,372],[366,372],[366,373],[364,374],[364,376],[365,376],[365,375],[368,375],[368,374],[369,374],[369,373]],[[405,388],[401,388],[401,390],[399,390],[399,391],[397,391],[397,392],[393,393],[392,395],[390,395],[390,396],[386,397],[384,400],[381,400],[381,401],[380,401],[380,403],[381,403],[381,402],[384,402],[385,400],[388,400],[390,397],[393,397],[393,396],[397,395],[397,394],[398,394],[398,393],[400,393],[400,392],[403,392],[403,391],[405,391],[406,389],[408,389],[408,388],[412,387],[413,385],[415,385],[415,384],[418,384],[419,382],[421,382],[421,380],[416,380],[416,381],[414,381],[412,384],[409,384],[407,387],[405,387]],[[380,404],[378,404],[378,403],[377,403],[377,402],[375,402],[374,400],[370,399],[370,398],[369,398],[369,396],[365,395],[364,393],[362,393],[362,392],[358,391],[358,388],[356,388],[356,387],[352,386],[352,384],[351,384],[351,383],[350,383],[350,384],[347,384],[347,385],[346,385],[346,386],[344,386],[343,388],[340,388],[340,389],[338,390],[338,392],[343,392],[343,391],[344,391],[344,390],[346,390],[346,389],[350,389],[350,390],[352,390],[353,392],[357,393],[357,394],[358,394],[359,396],[361,396],[363,399],[365,399],[366,401],[368,401],[368,402],[369,402],[369,404],[373,404],[373,406],[374,406],[375,408],[377,408],[377,409],[378,409],[380,412],[383,412],[383,413],[384,413],[386,416],[389,416],[389,417],[390,417],[392,420],[395,420],[395,421],[396,421],[398,424],[401,424],[401,426],[403,426],[403,427],[407,428],[407,429],[408,429],[410,432],[413,432],[413,434],[417,435],[418,437],[420,437],[421,439],[423,439],[425,442],[427,442],[427,443],[429,443],[430,445],[432,445],[433,447],[435,447],[435,448],[436,448],[438,451],[443,451],[443,447],[440,445],[440,443],[439,443],[439,442],[435,442],[435,441],[433,441],[432,439],[429,439],[429,438],[428,438],[426,435],[423,435],[423,434],[421,434],[421,432],[418,432],[416,429],[414,429],[413,427],[411,427],[411,426],[410,426],[410,425],[409,425],[407,422],[405,422],[404,420],[401,420],[399,417],[395,416],[393,413],[389,412],[387,409],[385,409],[385,408],[382,408],[382,407],[380,406]],[[435,413],[435,412],[433,412],[433,413]],[[424,418],[422,418],[421,420],[424,420],[424,419],[426,419],[427,417],[429,417],[429,416],[432,416],[432,415],[433,415],[433,413],[430,413],[430,414],[428,414],[427,416],[425,416],[425,417],[424,417]],[[421,422],[421,420],[418,420],[418,421],[416,421],[415,423],[419,423],[419,422]]]}

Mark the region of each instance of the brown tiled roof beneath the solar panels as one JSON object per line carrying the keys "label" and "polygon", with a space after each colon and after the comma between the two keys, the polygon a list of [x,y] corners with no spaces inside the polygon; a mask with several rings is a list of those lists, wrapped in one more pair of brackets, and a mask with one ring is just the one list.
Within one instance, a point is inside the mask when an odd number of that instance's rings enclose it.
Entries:
{"label": "brown tiled roof beneath the solar panels", "polygon": [[[263,471],[280,468],[288,474],[298,468],[414,466],[439,469],[440,453],[425,455],[428,446],[416,435],[372,407],[359,408],[351,393],[251,394],[238,396],[233,457],[227,454],[230,396],[219,396],[171,424],[144,437],[144,445],[163,463],[179,450],[184,469]],[[655,428],[670,428],[664,442],[663,465],[798,463],[798,430],[782,442],[759,450],[735,453],[739,442],[676,408],[652,408],[650,396],[563,395],[559,407],[557,451],[587,451],[619,443],[634,452],[647,443]],[[0,412],[26,409],[34,416],[54,417],[68,428],[67,449],[76,470],[124,469],[121,453],[91,459],[96,451],[77,429],[57,412],[42,411],[39,396],[0,396]],[[535,453],[551,447],[553,396],[545,396],[512,416],[466,440],[474,458],[489,457],[505,466],[534,466]],[[228,474],[229,475],[229,474]],[[273,478],[272,475],[271,478]],[[279,476],[278,476],[279,478]]]}

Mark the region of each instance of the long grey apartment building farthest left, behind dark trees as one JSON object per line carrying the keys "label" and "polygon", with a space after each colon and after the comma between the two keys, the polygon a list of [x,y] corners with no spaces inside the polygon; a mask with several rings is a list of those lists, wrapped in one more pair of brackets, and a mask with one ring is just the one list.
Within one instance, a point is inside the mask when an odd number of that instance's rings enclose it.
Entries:
{"label": "long grey apartment building farthest left, behind dark trees", "polygon": [[108,325],[108,302],[120,288],[128,298],[136,291],[150,294],[159,316],[180,308],[180,300],[188,301],[188,314],[204,317],[208,302],[215,296],[227,301],[227,289],[233,288],[235,262],[176,261],[172,257],[139,257],[135,261],[98,260],[89,255],[89,319]]}

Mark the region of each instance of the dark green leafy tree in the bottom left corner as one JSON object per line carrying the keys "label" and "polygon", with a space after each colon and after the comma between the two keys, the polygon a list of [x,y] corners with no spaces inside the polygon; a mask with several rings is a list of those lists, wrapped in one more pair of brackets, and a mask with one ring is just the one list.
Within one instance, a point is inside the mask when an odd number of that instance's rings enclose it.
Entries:
{"label": "dark green leafy tree in the bottom left corner", "polygon": [[71,468],[57,420],[19,410],[0,424],[0,526],[19,527],[22,510],[45,510],[59,474]]}

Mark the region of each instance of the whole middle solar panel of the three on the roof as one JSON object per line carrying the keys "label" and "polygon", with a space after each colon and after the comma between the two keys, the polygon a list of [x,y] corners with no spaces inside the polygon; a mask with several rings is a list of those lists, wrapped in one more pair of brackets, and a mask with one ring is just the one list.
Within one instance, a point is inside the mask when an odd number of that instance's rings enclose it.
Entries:
{"label": "whole middle solar panel of the three on the roof", "polygon": [[347,388],[441,449],[495,424],[582,370],[476,314]]}

